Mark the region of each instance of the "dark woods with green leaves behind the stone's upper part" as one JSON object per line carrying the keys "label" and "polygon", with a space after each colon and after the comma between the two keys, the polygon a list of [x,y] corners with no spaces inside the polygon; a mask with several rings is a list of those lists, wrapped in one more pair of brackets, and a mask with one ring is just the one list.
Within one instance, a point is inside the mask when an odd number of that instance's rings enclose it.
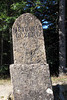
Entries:
{"label": "dark woods with green leaves behind the stone's upper part", "polygon": [[[43,26],[48,25],[48,29],[44,29],[47,60],[49,64],[55,65],[58,61],[58,0],[0,0],[0,36],[5,48],[3,64],[11,63],[12,25],[18,16],[26,12],[34,14]],[[44,23],[45,21],[48,23]]]}

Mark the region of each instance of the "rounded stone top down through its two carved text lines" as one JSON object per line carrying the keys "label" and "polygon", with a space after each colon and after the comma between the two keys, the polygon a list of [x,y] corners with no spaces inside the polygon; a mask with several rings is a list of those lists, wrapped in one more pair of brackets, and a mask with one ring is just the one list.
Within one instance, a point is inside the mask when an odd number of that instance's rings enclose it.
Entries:
{"label": "rounded stone top down through its two carved text lines", "polygon": [[34,15],[24,13],[14,22],[12,27],[12,35],[16,39],[26,37],[43,38],[42,24]]}

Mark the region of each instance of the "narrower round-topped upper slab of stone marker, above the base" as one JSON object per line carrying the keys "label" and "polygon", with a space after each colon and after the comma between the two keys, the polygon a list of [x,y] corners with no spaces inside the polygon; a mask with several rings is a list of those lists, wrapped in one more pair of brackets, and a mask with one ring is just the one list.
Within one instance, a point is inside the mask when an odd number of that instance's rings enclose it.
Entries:
{"label": "narrower round-topped upper slab of stone marker, above the base", "polygon": [[16,19],[13,28],[14,63],[45,63],[46,54],[41,22],[26,13]]}

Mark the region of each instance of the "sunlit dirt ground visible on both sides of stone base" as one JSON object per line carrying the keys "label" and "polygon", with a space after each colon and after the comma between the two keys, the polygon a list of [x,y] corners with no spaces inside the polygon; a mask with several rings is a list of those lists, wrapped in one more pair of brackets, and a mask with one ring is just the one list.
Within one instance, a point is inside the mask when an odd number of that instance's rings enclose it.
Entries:
{"label": "sunlit dirt ground visible on both sides of stone base", "polygon": [[[67,76],[52,77],[52,85],[67,85]],[[12,93],[12,84],[10,79],[0,80],[0,100],[8,100],[8,96]]]}

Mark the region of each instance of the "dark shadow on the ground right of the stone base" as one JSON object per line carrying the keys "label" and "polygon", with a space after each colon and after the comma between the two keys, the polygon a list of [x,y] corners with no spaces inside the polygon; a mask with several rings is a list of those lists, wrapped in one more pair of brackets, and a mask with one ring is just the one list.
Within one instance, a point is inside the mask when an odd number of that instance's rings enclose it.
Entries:
{"label": "dark shadow on the ground right of the stone base", "polygon": [[67,100],[67,85],[53,86],[54,100]]}

